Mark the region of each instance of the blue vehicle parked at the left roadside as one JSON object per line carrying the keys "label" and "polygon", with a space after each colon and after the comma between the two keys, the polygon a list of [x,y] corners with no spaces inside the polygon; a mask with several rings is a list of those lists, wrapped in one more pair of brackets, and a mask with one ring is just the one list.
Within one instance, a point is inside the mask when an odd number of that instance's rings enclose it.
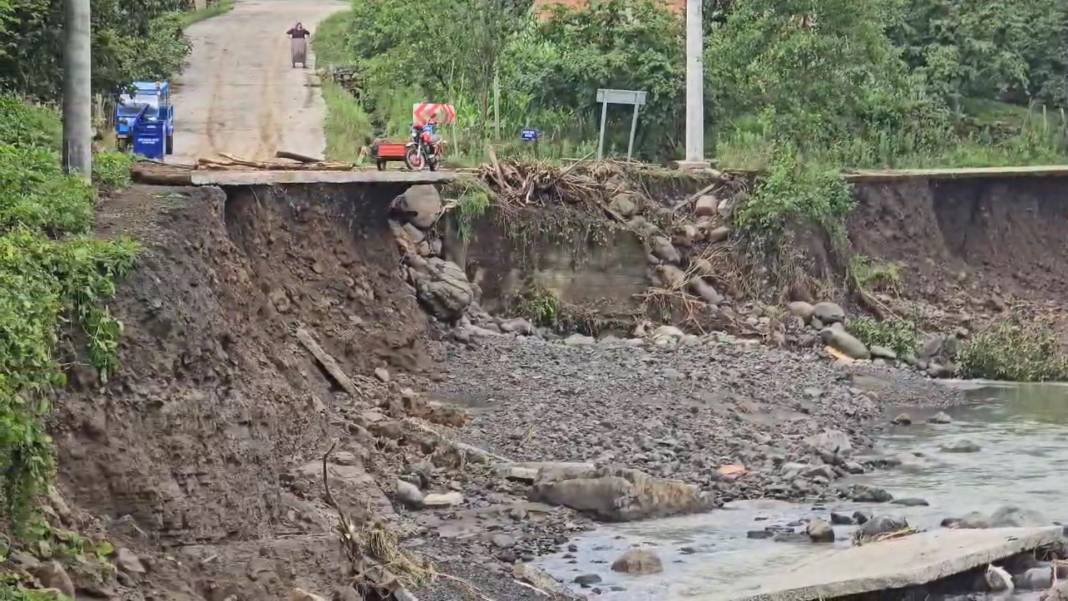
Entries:
{"label": "blue vehicle parked at the left roadside", "polygon": [[[139,144],[138,133],[142,137]],[[135,81],[128,92],[119,97],[115,108],[115,138],[120,149],[132,147],[135,153],[163,159],[174,153],[174,106],[171,84],[167,81]],[[150,141],[148,138],[153,140]],[[158,146],[158,148],[157,148]]]}

